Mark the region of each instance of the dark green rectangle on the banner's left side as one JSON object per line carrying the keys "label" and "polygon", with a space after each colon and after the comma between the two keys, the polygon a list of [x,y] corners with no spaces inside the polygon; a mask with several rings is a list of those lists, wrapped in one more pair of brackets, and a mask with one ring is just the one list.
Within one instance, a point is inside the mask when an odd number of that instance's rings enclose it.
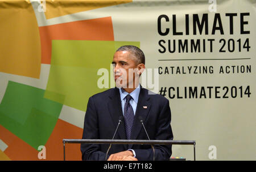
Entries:
{"label": "dark green rectangle on the banner's left side", "polygon": [[46,144],[62,109],[44,90],[9,81],[0,104],[0,124],[37,149]]}

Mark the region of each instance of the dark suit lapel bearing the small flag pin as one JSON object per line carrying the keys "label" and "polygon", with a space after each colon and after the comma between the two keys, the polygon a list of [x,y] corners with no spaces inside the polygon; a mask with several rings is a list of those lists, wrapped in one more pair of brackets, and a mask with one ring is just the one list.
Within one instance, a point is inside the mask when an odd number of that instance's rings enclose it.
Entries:
{"label": "dark suit lapel bearing the small flag pin", "polygon": [[133,128],[131,130],[131,140],[136,140],[138,135],[142,132],[142,124],[139,121],[139,116],[142,117],[143,122],[146,121],[148,112],[150,111],[150,102],[148,101],[149,99],[150,97],[148,96],[147,89],[141,88],[133,121]]}

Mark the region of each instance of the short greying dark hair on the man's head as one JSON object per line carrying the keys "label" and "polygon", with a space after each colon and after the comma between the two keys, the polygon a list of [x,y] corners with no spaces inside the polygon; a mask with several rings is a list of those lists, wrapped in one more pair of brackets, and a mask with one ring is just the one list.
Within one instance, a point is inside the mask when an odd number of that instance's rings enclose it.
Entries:
{"label": "short greying dark hair on the man's head", "polygon": [[139,49],[137,46],[123,45],[119,47],[117,51],[129,51],[137,59],[138,64],[143,63],[145,65],[145,55],[143,51]]}

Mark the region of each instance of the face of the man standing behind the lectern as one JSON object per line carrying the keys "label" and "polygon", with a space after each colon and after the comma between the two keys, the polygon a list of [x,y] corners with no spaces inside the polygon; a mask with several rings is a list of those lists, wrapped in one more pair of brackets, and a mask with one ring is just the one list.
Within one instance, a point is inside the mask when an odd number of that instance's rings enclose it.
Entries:
{"label": "face of the man standing behind the lectern", "polygon": [[112,64],[117,87],[133,88],[135,81],[139,81],[139,75],[136,72],[136,70],[139,70],[138,64],[129,51],[115,52]]}

